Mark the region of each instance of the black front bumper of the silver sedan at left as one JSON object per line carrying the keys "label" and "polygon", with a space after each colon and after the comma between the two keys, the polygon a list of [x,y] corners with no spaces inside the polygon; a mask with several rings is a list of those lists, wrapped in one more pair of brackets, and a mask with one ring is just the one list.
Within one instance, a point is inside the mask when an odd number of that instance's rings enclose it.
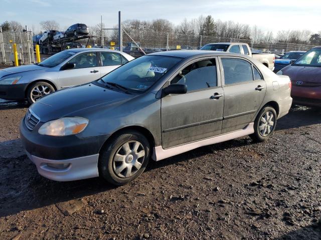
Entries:
{"label": "black front bumper of the silver sedan at left", "polygon": [[26,98],[28,83],[22,84],[0,84],[0,98],[6,100],[23,100]]}

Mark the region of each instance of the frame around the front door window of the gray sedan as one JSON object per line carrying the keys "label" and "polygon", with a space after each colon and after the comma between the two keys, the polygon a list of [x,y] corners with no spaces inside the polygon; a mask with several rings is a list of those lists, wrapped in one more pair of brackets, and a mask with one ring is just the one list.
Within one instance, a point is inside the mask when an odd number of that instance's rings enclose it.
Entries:
{"label": "frame around the front door window of the gray sedan", "polygon": [[[220,74],[220,66],[219,66],[219,59],[217,56],[204,56],[204,57],[198,57],[198,58],[195,58],[189,62],[186,62],[184,65],[182,65],[179,70],[177,70],[168,80],[167,82],[165,82],[165,84],[163,85],[162,88],[164,87],[167,87],[168,85],[171,84],[171,81],[174,79],[174,77],[176,77],[176,75],[182,71],[185,67],[193,64],[194,62],[197,62],[197,61],[202,61],[202,60],[208,60],[208,59],[215,59],[215,63],[216,63],[216,75],[217,75],[217,86],[213,86],[213,87],[206,87],[206,88],[200,88],[200,89],[196,89],[196,90],[192,90],[192,91],[187,91],[185,94],[187,93],[190,93],[190,92],[196,92],[196,91],[204,91],[204,90],[209,90],[209,89],[214,89],[214,88],[218,88],[218,87],[221,87],[222,84],[221,84],[221,74]],[[178,95],[178,94],[169,94],[168,96],[171,96],[171,95]]]}

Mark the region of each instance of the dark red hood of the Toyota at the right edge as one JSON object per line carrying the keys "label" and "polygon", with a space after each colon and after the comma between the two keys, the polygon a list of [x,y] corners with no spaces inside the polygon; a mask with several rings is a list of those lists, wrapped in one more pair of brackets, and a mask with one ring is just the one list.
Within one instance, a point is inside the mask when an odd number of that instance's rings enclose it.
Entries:
{"label": "dark red hood of the Toyota at the right edge", "polygon": [[282,72],[292,81],[321,82],[321,67],[288,65],[282,69]]}

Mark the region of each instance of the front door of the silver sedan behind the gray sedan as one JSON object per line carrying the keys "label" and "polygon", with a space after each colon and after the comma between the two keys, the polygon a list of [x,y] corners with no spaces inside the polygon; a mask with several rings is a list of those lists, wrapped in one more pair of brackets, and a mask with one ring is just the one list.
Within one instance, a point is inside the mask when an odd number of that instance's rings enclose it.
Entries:
{"label": "front door of the silver sedan behind the gray sedan", "polygon": [[80,85],[100,78],[100,66],[98,65],[97,52],[80,53],[68,62],[74,63],[75,67],[60,70],[59,84],[61,88]]}

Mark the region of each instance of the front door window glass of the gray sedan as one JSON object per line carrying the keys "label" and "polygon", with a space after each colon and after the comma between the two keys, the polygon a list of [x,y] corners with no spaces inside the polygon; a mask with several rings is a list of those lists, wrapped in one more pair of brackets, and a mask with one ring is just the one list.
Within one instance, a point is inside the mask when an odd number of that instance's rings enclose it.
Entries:
{"label": "front door window glass of the gray sedan", "polygon": [[186,84],[188,91],[217,86],[215,59],[194,62],[185,67],[171,84]]}

